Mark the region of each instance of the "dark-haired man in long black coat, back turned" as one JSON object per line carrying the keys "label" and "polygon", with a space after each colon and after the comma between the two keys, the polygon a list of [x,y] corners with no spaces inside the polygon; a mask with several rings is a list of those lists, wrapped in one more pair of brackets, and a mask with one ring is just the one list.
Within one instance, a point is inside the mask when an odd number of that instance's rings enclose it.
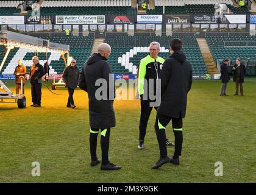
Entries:
{"label": "dark-haired man in long black coat, back turned", "polygon": [[[171,56],[165,60],[160,73],[161,103],[155,119],[155,133],[160,149],[160,159],[152,166],[153,169],[157,169],[168,162],[179,165],[183,143],[182,119],[185,118],[187,94],[192,85],[191,65],[181,49],[182,41],[179,38],[174,38],[170,43]],[[165,143],[165,129],[169,121],[172,121],[175,137],[175,151],[172,158],[167,155]]]}

